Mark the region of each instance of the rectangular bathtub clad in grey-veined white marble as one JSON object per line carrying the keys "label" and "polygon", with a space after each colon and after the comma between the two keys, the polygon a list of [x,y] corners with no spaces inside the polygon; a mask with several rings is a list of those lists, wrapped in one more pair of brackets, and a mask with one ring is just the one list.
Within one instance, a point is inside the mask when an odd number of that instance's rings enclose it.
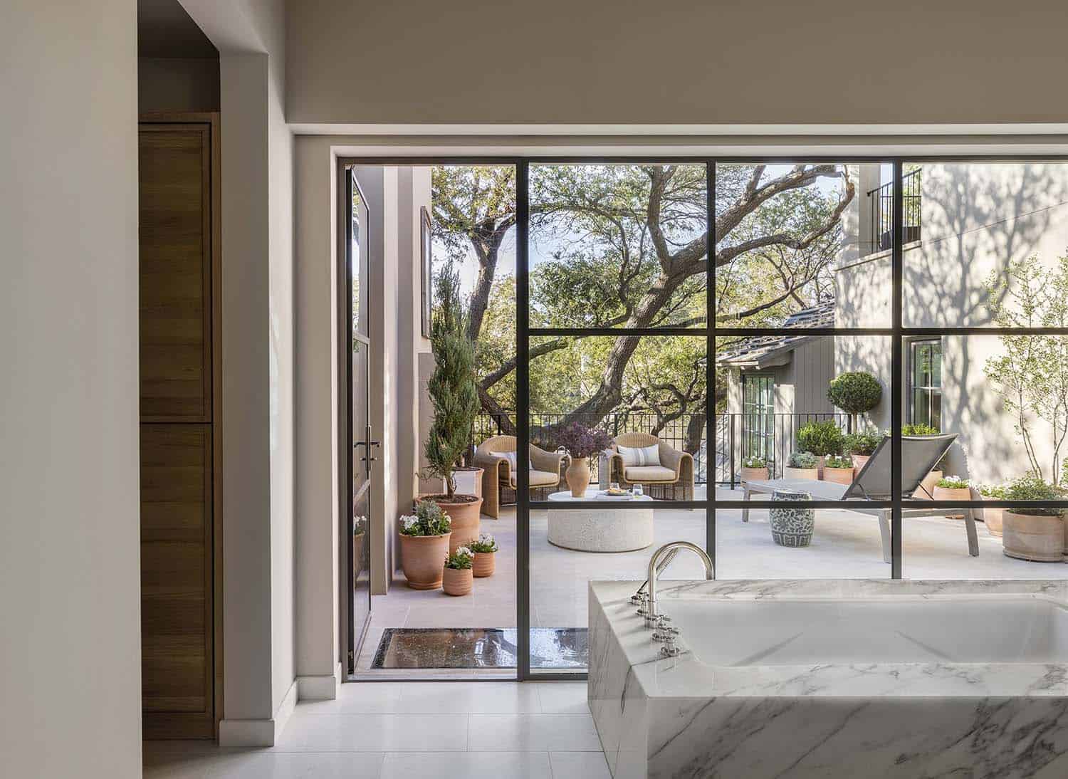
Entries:
{"label": "rectangular bathtub clad in grey-veined white marble", "polygon": [[664,582],[685,652],[590,582],[590,707],[630,777],[1068,777],[1068,582]]}

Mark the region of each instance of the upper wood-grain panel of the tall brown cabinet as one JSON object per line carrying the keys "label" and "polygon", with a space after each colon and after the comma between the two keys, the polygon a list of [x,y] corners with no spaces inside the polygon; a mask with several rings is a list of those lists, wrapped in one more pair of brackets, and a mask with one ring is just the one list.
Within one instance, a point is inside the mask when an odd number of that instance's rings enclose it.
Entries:
{"label": "upper wood-grain panel of the tall brown cabinet", "polygon": [[207,125],[140,130],[141,418],[211,415],[211,155]]}

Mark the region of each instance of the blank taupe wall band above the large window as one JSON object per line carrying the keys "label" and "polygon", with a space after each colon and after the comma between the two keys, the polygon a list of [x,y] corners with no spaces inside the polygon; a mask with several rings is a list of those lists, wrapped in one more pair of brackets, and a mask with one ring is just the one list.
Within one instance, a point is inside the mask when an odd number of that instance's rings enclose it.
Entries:
{"label": "blank taupe wall band above the large window", "polygon": [[1065,122],[1068,105],[1042,99],[1064,87],[1064,13],[1063,0],[294,2],[289,121]]}

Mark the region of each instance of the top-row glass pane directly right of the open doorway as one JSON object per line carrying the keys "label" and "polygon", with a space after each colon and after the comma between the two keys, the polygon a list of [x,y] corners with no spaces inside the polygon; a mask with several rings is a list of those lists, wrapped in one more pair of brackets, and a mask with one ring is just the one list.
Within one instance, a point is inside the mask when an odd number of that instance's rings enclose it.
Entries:
{"label": "top-row glass pane directly right of the open doorway", "polygon": [[531,327],[700,327],[703,165],[530,169]]}

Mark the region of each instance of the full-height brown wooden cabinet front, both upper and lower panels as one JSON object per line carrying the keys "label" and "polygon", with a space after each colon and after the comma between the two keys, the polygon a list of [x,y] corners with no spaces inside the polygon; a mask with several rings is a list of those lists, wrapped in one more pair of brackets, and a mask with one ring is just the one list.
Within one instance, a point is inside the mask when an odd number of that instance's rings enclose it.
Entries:
{"label": "full-height brown wooden cabinet front, both upper and lower panels", "polygon": [[150,121],[139,137],[143,732],[213,738],[222,690],[218,126]]}

